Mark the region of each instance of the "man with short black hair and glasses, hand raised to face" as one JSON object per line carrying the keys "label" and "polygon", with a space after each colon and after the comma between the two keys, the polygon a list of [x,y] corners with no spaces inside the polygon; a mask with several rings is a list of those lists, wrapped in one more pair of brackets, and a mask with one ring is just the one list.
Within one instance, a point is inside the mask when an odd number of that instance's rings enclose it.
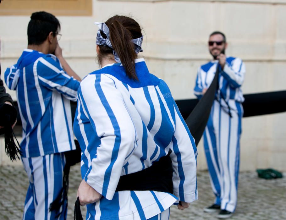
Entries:
{"label": "man with short black hair and glasses, hand raised to face", "polygon": [[[54,15],[33,13],[27,30],[28,48],[5,72],[8,88],[16,90],[23,127],[21,159],[30,182],[23,216],[26,220],[67,216],[64,152],[76,148],[70,100],[76,101],[80,77],[62,56],[59,31]],[[53,201],[58,207],[51,211]]]}

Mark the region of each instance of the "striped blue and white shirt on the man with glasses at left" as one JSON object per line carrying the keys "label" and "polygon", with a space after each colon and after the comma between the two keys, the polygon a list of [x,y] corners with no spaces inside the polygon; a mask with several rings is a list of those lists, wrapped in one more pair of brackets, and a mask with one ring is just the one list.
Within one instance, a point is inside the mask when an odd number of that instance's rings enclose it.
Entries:
{"label": "striped blue and white shirt on the man with glasses at left", "polygon": [[75,149],[70,100],[76,100],[80,82],[63,71],[56,56],[24,50],[17,64],[7,68],[5,82],[16,90],[22,157]]}

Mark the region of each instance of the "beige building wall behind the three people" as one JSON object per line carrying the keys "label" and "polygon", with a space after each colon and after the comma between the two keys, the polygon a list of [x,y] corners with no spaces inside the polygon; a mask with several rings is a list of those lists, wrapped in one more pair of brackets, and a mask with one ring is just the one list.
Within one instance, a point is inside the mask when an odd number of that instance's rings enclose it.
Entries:
{"label": "beige building wall behind the three people", "polygon": [[[30,5],[19,5],[23,2]],[[286,0],[4,0],[0,4],[2,79],[5,68],[16,63],[27,47],[29,15],[38,10],[57,15],[63,54],[81,77],[99,69],[93,23],[123,14],[143,27],[142,55],[175,99],[195,98],[196,71],[211,59],[207,41],[214,30],[226,34],[226,54],[245,62],[245,94],[286,90]],[[16,100],[15,93],[9,92]],[[242,123],[240,169],[286,171],[286,113],[244,118]],[[3,139],[0,148],[0,164],[10,164]],[[206,169],[202,141],[198,151],[198,168]]]}

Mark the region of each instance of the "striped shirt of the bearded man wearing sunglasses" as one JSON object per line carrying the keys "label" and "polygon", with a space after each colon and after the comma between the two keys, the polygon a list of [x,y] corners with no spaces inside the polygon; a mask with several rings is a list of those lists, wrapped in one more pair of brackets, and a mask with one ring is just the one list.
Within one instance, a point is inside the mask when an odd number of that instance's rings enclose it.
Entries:
{"label": "striped shirt of the bearded man wearing sunglasses", "polygon": [[[198,69],[194,93],[201,98],[202,91],[208,88],[217,70],[218,61],[210,61]],[[223,98],[243,102],[241,85],[245,77],[245,65],[240,58],[227,57],[223,70],[219,74],[219,90]]]}

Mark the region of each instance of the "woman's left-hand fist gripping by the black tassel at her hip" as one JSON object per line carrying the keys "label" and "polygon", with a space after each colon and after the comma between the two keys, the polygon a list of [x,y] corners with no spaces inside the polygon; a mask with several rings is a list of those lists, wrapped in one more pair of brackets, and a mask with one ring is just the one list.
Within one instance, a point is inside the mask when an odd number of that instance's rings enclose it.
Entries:
{"label": "woman's left-hand fist gripping by the black tassel at her hip", "polygon": [[81,181],[79,189],[77,190],[77,196],[80,199],[81,206],[97,202],[102,197],[102,195],[87,184],[84,179]]}

